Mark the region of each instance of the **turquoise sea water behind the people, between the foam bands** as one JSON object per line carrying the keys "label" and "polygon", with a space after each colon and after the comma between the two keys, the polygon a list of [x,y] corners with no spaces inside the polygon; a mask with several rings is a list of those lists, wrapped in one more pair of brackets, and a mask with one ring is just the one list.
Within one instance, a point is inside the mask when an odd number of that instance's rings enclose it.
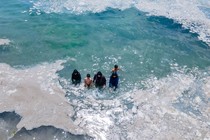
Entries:
{"label": "turquoise sea water behind the people, between the foam bands", "polygon": [[[209,42],[206,41],[209,35],[202,40],[200,32],[192,33],[197,30],[192,30],[191,26],[185,28],[181,22],[164,15],[148,15],[150,11],[138,9],[138,6],[120,9],[120,4],[116,7],[105,5],[106,9],[99,12],[91,11],[91,8],[78,12],[72,10],[72,7],[78,5],[66,7],[64,5],[67,2],[71,3],[67,0],[2,0],[0,38],[11,42],[0,46],[0,63],[15,68],[30,68],[43,62],[67,60],[64,69],[58,71],[59,76],[67,81],[70,81],[74,69],[80,71],[82,78],[87,73],[93,76],[100,70],[108,80],[110,70],[118,64],[121,68],[120,88],[111,97],[105,93],[103,99],[114,99],[133,92],[134,89],[145,89],[147,85],[144,82],[151,77],[158,80],[181,71],[184,75],[192,74],[194,78],[198,78],[193,95],[199,95],[201,99],[207,98],[199,90],[199,85],[203,84],[199,78],[209,76],[210,49]],[[87,2],[85,8],[88,6],[92,5]],[[59,8],[58,11],[56,7]],[[207,16],[210,13],[209,7],[201,9],[206,20],[210,20]],[[83,99],[73,96],[75,91],[72,91],[71,85],[62,86],[68,89],[68,98]],[[191,89],[188,91],[193,91]],[[188,96],[182,99],[191,101]],[[185,104],[183,100],[177,99],[174,108],[187,114],[189,110],[196,112],[190,103]],[[203,104],[209,105],[209,99]],[[132,104],[128,102],[128,108],[129,106],[132,108]],[[51,131],[52,128],[48,129]],[[34,131],[28,133],[35,135],[37,131]],[[53,134],[49,134],[49,139],[50,135]],[[122,137],[126,139],[126,136]],[[25,134],[25,139],[27,138],[30,139],[30,136]]]}

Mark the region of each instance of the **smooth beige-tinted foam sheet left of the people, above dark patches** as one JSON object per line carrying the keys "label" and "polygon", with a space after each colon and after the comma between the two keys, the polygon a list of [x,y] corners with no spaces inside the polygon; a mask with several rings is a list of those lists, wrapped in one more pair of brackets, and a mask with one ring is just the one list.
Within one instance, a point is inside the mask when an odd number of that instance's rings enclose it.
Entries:
{"label": "smooth beige-tinted foam sheet left of the people, above dark patches", "polygon": [[56,71],[63,68],[63,62],[24,69],[0,64],[0,112],[15,111],[22,116],[18,129],[55,126],[74,134],[83,133],[71,120],[73,108],[58,82]]}

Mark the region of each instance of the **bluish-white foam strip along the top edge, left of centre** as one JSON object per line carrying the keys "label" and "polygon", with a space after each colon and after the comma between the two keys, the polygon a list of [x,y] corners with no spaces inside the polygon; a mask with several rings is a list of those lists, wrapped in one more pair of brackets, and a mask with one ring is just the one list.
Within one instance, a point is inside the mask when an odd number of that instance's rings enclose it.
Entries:
{"label": "bluish-white foam strip along the top edge, left of centre", "polygon": [[108,7],[126,9],[129,8],[132,3],[132,1],[123,0],[39,0],[34,3],[34,7],[44,10],[46,13],[63,13],[65,11],[70,11],[81,14],[84,12],[96,13],[105,11]]}

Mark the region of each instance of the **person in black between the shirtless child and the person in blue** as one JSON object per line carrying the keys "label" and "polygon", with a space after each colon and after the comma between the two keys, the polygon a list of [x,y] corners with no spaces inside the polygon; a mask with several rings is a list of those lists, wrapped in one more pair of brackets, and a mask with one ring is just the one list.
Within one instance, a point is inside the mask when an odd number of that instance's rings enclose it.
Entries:
{"label": "person in black between the shirtless child and the person in blue", "polygon": [[93,83],[97,88],[105,88],[106,87],[106,78],[102,75],[99,71],[97,74],[94,75]]}

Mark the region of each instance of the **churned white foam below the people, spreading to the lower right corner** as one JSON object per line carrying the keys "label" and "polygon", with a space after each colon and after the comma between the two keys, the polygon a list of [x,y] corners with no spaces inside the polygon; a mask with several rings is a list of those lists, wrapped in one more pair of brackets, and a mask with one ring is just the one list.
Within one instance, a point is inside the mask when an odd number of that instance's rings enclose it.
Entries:
{"label": "churned white foam below the people, spreading to the lower right corner", "polygon": [[[210,77],[203,78],[196,68],[186,74],[185,68],[174,67],[176,72],[167,77],[142,82],[145,89],[112,99],[106,99],[110,94],[106,92],[98,93],[103,96],[100,100],[95,90],[74,90],[75,124],[97,140],[209,139]],[[191,108],[178,108],[176,104],[189,104]]]}

